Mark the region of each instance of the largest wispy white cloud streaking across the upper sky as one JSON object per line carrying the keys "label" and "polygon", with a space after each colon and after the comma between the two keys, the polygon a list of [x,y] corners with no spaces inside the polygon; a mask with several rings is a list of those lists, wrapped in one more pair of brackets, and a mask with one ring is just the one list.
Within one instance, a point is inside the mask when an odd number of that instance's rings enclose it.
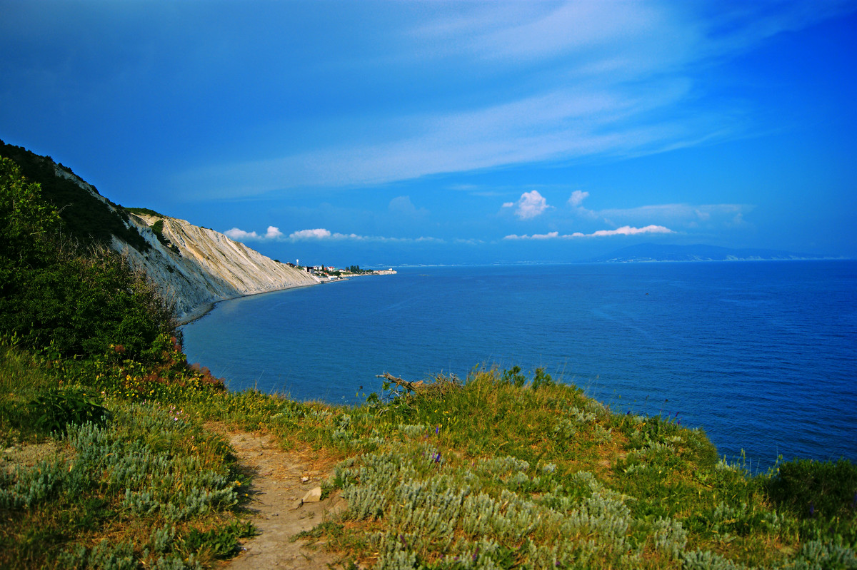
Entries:
{"label": "largest wispy white cloud streaking across the upper sky", "polygon": [[[468,104],[387,116],[349,116],[315,149],[183,175],[208,195],[351,187],[591,155],[637,156],[746,134],[727,103],[699,105],[709,68],[778,33],[848,9],[845,2],[642,2],[440,5],[404,33],[389,61],[442,60],[458,75],[498,83]],[[713,15],[712,15],[713,14]],[[439,47],[440,46],[440,47]],[[389,63],[386,62],[386,63]],[[545,69],[550,69],[548,74]],[[499,78],[499,79],[497,79]],[[511,80],[510,80],[511,81]],[[488,93],[488,94],[484,94]],[[504,95],[506,94],[507,95]],[[449,98],[437,98],[448,101]],[[734,103],[739,104],[739,103]],[[447,104],[449,105],[449,104]],[[353,128],[365,122],[366,128]]]}

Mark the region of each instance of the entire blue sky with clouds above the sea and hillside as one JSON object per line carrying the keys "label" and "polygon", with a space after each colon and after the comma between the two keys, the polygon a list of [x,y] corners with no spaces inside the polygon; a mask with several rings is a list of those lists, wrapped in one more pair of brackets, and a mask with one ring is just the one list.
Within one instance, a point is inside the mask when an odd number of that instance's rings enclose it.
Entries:
{"label": "entire blue sky with clouds above the sea and hillside", "polygon": [[5,0],[0,139],[281,260],[857,257],[857,3]]}

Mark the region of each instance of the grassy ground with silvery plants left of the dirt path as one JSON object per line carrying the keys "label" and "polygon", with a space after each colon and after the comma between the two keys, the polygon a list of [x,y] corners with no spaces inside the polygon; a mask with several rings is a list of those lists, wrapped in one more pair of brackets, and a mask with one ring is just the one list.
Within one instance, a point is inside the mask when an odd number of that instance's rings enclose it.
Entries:
{"label": "grassy ground with silvery plants left of the dirt path", "polygon": [[69,382],[84,363],[0,353],[0,567],[207,567],[252,534],[246,479],[200,421]]}

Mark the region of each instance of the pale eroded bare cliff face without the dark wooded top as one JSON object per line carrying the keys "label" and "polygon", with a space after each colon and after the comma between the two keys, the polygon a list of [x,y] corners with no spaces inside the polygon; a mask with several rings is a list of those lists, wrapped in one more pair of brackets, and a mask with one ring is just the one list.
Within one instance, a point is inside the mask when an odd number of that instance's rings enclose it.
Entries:
{"label": "pale eroded bare cliff face without the dark wooded top", "polygon": [[[163,220],[161,235],[175,249],[159,240],[151,226]],[[181,320],[205,312],[211,303],[243,295],[320,282],[301,270],[281,264],[225,235],[172,217],[132,214],[134,223],[152,250],[143,254],[122,241],[113,246],[125,252],[172,300]]]}

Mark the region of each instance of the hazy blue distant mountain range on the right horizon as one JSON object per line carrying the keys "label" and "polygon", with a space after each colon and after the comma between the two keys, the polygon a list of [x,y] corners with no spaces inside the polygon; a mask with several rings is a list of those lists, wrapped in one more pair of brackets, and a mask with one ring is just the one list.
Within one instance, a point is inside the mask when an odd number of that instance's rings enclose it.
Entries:
{"label": "hazy blue distant mountain range on the right horizon", "polygon": [[729,247],[659,245],[641,243],[623,247],[587,261],[602,263],[630,263],[646,261],[773,261],[782,259],[823,259],[820,255],[781,252],[773,249],[732,249]]}

